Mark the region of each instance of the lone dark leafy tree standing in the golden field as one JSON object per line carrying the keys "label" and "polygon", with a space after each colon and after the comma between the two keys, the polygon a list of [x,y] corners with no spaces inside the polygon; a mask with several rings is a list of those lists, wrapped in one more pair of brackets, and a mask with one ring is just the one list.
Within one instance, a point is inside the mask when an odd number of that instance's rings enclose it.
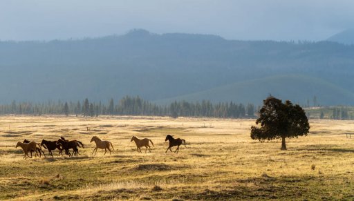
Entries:
{"label": "lone dark leafy tree standing in the golden field", "polygon": [[256,124],[261,124],[261,127],[251,127],[252,139],[263,142],[281,138],[281,150],[286,150],[286,137],[306,136],[310,129],[305,111],[288,100],[283,103],[270,95],[263,100],[259,113]]}

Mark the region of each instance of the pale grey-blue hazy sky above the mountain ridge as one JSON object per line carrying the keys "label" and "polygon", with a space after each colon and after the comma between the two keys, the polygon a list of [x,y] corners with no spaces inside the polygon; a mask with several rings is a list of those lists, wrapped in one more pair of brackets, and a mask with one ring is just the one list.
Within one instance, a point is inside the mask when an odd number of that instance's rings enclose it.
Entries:
{"label": "pale grey-blue hazy sky above the mountain ridge", "polygon": [[327,39],[354,27],[353,0],[1,0],[0,40],[150,32],[225,39]]}

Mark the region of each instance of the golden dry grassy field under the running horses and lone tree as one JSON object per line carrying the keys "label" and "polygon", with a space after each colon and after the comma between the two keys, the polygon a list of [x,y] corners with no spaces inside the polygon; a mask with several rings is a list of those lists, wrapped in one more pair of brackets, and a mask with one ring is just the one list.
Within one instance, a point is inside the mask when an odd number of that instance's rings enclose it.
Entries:
{"label": "golden dry grassy field under the running horses and lone tree", "polygon": [[[353,121],[310,120],[310,134],[287,140],[288,151],[280,140],[251,140],[254,121],[0,116],[0,200],[354,199]],[[167,134],[187,148],[165,154]],[[115,153],[91,155],[93,135]],[[151,153],[138,153],[132,135],[150,138]],[[25,138],[60,136],[82,141],[81,155],[24,160],[15,149]]]}

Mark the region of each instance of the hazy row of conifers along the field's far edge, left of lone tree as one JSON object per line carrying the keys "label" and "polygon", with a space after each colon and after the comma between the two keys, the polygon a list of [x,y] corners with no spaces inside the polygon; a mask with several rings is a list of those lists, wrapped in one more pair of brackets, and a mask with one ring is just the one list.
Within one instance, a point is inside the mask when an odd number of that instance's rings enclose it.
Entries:
{"label": "hazy row of conifers along the field's far edge, left of lone tree", "polygon": [[[258,106],[258,109],[260,106]],[[17,102],[0,105],[0,114],[16,115],[84,115],[94,117],[99,115],[147,115],[147,116],[174,116],[174,117],[219,117],[240,118],[254,116],[256,108],[253,104],[247,106],[234,102],[219,102],[213,104],[209,100],[202,102],[172,102],[161,106],[137,97],[123,97],[118,104],[111,98],[107,105],[102,102],[88,102],[88,99],[80,102]]]}

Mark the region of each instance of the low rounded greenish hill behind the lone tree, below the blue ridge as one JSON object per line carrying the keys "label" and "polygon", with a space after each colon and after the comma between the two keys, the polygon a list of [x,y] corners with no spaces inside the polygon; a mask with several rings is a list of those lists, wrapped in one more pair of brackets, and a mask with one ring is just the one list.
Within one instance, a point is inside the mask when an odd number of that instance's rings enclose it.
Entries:
{"label": "low rounded greenish hill behind the lone tree, below the blue ridge", "polygon": [[266,99],[269,94],[283,101],[289,99],[294,104],[299,103],[300,105],[306,104],[309,99],[310,106],[313,106],[314,95],[317,97],[317,103],[323,106],[339,103],[354,105],[354,93],[322,79],[293,74],[238,82],[198,93],[162,99],[156,101],[156,104],[169,104],[175,100],[181,101],[183,99],[187,102],[201,102],[203,99],[210,99],[213,103],[232,101],[259,105],[263,104],[263,99]]}

